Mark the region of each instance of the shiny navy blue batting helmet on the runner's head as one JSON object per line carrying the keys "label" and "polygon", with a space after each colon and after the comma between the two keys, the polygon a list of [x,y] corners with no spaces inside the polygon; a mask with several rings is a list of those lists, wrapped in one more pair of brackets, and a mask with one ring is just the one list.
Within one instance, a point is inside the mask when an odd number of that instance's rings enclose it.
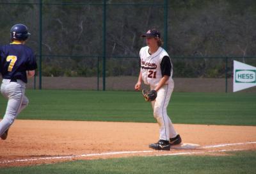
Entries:
{"label": "shiny navy blue batting helmet on the runner's head", "polygon": [[24,24],[15,24],[11,28],[11,38],[16,40],[27,40],[30,33]]}

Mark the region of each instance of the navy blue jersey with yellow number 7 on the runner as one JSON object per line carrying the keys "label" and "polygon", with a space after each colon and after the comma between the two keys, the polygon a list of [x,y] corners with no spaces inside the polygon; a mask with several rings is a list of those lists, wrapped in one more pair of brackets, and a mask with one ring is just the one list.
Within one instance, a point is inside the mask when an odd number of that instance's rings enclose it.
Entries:
{"label": "navy blue jersey with yellow number 7 on the runner", "polygon": [[0,59],[3,79],[19,79],[27,83],[26,71],[37,67],[32,49],[15,42],[0,46]]}

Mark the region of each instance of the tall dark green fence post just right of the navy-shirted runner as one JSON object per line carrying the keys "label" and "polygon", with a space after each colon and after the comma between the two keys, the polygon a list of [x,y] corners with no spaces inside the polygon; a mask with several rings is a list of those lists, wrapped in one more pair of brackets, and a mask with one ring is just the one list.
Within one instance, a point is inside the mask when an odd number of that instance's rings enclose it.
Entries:
{"label": "tall dark green fence post just right of the navy-shirted runner", "polygon": [[39,90],[42,90],[42,0],[39,3]]}

